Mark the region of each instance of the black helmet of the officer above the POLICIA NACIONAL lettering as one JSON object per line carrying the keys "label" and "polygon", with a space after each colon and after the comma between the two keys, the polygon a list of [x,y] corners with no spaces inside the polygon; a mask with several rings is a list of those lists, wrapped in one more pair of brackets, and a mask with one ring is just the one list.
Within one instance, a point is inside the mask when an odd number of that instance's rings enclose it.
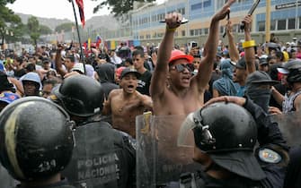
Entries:
{"label": "black helmet of the officer above the POLICIA NACIONAL lettering", "polygon": [[102,111],[104,93],[101,83],[88,76],[66,78],[54,94],[71,115],[88,117]]}

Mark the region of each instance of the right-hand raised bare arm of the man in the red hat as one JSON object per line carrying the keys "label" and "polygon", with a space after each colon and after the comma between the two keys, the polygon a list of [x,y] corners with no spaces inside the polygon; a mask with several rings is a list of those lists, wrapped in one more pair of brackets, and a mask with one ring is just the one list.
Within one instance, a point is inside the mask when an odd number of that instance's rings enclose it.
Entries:
{"label": "right-hand raised bare arm of the man in the red hat", "polygon": [[196,84],[199,90],[204,90],[210,80],[213,69],[214,58],[217,54],[217,46],[219,39],[219,21],[226,18],[227,13],[230,13],[230,5],[235,3],[235,0],[229,0],[211,19],[209,35],[204,47],[203,57],[199,64],[199,72],[196,76]]}

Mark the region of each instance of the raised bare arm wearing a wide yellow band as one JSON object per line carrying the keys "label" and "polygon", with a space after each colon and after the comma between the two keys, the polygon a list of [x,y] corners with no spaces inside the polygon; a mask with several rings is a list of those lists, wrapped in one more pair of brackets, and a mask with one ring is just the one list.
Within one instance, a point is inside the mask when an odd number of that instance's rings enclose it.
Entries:
{"label": "raised bare arm wearing a wide yellow band", "polygon": [[244,60],[246,64],[247,73],[256,71],[255,67],[255,40],[251,38],[252,15],[246,15],[243,19],[244,22]]}

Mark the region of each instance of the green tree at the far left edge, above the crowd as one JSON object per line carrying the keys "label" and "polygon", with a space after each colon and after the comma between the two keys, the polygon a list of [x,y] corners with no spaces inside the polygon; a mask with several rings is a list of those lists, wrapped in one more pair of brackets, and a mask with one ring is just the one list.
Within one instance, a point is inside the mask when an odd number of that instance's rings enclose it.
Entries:
{"label": "green tree at the far left edge, above the crowd", "polygon": [[21,18],[7,8],[6,4],[13,4],[15,0],[0,0],[0,37],[1,44],[4,44],[4,38],[8,41],[15,41],[22,37]]}

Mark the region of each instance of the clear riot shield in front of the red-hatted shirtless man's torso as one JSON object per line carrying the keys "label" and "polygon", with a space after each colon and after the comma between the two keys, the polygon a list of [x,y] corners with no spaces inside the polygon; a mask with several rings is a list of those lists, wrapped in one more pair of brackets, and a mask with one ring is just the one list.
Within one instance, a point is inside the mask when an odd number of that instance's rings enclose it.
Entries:
{"label": "clear riot shield in front of the red-hatted shirtless man's torso", "polygon": [[[192,160],[193,147],[177,144],[185,118],[186,115],[136,117],[137,187],[164,187],[179,182],[181,174],[200,169]],[[188,139],[193,142],[193,134]]]}

